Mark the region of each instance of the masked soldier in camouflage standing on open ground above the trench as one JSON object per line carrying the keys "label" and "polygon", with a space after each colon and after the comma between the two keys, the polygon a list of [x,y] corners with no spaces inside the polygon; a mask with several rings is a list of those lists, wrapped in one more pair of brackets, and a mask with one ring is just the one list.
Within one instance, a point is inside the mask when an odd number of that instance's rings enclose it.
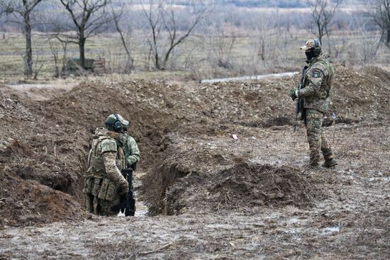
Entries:
{"label": "masked soldier in camouflage standing on open ground above the trench", "polygon": [[328,110],[334,71],[328,60],[329,56],[321,54],[321,44],[317,39],[308,40],[301,50],[305,50],[308,63],[303,87],[301,90],[291,89],[290,96],[293,101],[296,98],[303,98],[301,119],[306,125],[310,165],[318,166],[322,151],[325,159],[323,166],[330,168],[335,166],[337,161],[323,132],[322,123],[323,116]]}

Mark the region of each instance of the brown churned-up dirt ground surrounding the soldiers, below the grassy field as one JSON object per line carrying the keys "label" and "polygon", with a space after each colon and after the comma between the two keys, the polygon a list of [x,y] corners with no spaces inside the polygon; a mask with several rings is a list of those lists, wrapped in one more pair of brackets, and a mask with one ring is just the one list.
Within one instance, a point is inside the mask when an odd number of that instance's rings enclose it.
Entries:
{"label": "brown churned-up dirt ground surrounding the soldiers, below the grassy field", "polygon": [[[303,125],[291,132],[297,77],[0,86],[0,258],[388,259],[390,73],[336,72],[335,169],[307,168]],[[113,112],[130,120],[155,217],[82,210],[91,135]]]}

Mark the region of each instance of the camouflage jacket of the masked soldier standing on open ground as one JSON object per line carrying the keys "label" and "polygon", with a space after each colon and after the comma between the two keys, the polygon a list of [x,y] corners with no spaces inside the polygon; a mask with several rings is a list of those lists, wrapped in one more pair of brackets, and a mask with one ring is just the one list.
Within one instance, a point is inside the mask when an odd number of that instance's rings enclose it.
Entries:
{"label": "camouflage jacket of the masked soldier standing on open ground", "polygon": [[334,74],[328,57],[323,54],[313,58],[306,69],[303,89],[298,94],[299,97],[303,97],[304,108],[316,109],[322,113],[328,111]]}

